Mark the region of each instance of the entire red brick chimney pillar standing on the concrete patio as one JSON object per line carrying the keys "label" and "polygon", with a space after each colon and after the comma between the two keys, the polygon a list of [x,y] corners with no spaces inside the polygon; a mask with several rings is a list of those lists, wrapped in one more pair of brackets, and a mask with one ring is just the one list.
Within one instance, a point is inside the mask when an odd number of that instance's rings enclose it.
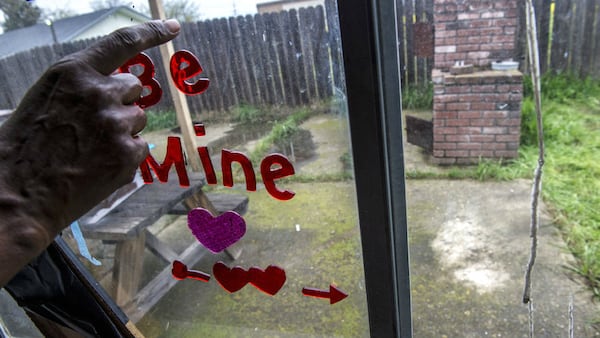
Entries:
{"label": "entire red brick chimney pillar standing on the concrete patio", "polygon": [[[490,70],[515,54],[517,0],[434,1],[434,162],[517,157],[523,76]],[[457,61],[475,71],[452,75]]]}

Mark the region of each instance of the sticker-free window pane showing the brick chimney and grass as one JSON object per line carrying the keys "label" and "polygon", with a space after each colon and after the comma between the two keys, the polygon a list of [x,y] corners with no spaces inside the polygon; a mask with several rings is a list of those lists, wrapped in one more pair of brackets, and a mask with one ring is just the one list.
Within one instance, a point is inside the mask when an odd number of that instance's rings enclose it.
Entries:
{"label": "sticker-free window pane showing the brick chimney and grass", "polygon": [[[525,3],[397,1],[417,337],[529,335],[538,141]],[[594,336],[598,180],[588,160],[599,144],[600,58],[589,46],[600,13],[595,1],[533,3],[546,162],[532,335],[572,325],[574,336]]]}

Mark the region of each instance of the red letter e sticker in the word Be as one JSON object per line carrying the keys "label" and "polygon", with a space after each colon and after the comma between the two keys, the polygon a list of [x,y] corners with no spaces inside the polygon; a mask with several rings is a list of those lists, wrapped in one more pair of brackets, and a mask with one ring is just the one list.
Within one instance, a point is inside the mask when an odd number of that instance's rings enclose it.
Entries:
{"label": "red letter e sticker in the word Be", "polygon": [[[182,68],[184,65],[185,67]],[[198,79],[195,83],[186,81],[202,73],[202,71],[198,58],[187,50],[180,50],[171,56],[171,78],[177,89],[184,94],[202,94],[208,89],[210,81],[207,78]]]}

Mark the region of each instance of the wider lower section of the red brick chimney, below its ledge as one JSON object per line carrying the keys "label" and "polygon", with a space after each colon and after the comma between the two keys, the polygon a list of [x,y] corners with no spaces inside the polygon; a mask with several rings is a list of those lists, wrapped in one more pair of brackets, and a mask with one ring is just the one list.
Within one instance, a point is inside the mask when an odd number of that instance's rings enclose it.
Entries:
{"label": "wider lower section of the red brick chimney, below its ledge", "polygon": [[433,156],[438,164],[479,158],[516,158],[521,125],[522,74],[433,71]]}

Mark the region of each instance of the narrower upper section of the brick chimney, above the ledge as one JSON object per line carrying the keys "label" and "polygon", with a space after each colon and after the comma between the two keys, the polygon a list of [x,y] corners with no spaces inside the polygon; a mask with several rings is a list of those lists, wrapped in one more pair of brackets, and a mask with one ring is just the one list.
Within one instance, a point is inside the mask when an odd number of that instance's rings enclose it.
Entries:
{"label": "narrower upper section of the brick chimney, above the ledge", "polygon": [[456,61],[489,68],[514,58],[517,1],[435,0],[434,68],[447,71]]}

